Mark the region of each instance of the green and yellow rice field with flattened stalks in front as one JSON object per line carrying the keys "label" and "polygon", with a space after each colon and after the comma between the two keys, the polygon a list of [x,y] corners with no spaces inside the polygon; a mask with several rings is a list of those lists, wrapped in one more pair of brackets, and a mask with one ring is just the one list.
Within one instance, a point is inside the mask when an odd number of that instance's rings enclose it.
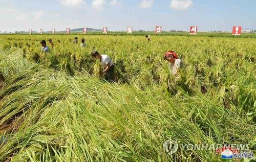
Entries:
{"label": "green and yellow rice field with flattened stalks in front", "polygon": [[[87,48],[72,44],[77,36]],[[48,54],[41,39],[53,39]],[[0,35],[0,161],[221,161],[163,143],[256,148],[256,39]],[[48,44],[49,45],[49,44]],[[116,83],[90,53],[109,55]],[[183,61],[169,74],[166,51]],[[254,155],[255,156],[255,155]]]}

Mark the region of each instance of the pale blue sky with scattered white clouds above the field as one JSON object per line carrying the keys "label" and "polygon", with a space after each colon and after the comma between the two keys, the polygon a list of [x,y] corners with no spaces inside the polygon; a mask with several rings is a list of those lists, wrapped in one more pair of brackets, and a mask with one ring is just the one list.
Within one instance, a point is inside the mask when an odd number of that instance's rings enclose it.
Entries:
{"label": "pale blue sky with scattered white clouds above the field", "polygon": [[0,0],[0,31],[256,30],[256,0]]}

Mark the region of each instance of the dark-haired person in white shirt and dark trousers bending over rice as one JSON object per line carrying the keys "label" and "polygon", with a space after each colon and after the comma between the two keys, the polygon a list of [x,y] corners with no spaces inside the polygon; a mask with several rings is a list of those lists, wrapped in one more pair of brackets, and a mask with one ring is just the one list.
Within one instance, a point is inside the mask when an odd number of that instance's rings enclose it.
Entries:
{"label": "dark-haired person in white shirt and dark trousers bending over rice", "polygon": [[111,58],[108,55],[100,55],[97,51],[94,51],[91,53],[91,56],[93,58],[99,59],[101,66],[104,68],[103,73],[106,74],[108,77],[107,80],[109,82],[114,82],[115,79],[115,67],[111,60]]}

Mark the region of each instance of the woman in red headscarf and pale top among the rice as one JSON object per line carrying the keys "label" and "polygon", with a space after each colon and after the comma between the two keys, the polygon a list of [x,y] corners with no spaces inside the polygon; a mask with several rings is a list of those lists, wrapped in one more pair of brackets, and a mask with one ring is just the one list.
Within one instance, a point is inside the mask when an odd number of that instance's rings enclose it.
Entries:
{"label": "woman in red headscarf and pale top among the rice", "polygon": [[170,50],[164,54],[164,60],[170,63],[170,73],[173,76],[177,76],[179,73],[179,68],[181,67],[181,60],[178,58],[177,53],[173,50]]}

